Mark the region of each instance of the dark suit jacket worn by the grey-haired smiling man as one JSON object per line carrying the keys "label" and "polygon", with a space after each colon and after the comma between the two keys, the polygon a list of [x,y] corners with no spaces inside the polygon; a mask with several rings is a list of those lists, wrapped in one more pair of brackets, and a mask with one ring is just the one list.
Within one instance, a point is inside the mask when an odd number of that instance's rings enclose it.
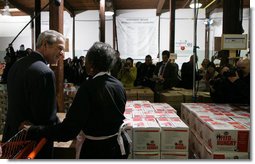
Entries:
{"label": "dark suit jacket worn by the grey-haired smiling man", "polygon": [[19,131],[23,121],[53,125],[56,115],[54,72],[37,52],[21,58],[11,67],[7,79],[8,111],[3,133],[6,142]]}

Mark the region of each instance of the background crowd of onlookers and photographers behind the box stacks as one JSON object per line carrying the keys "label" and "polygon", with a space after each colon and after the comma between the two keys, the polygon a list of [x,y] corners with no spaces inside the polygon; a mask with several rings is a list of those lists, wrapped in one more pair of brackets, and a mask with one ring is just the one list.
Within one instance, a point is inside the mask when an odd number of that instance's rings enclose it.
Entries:
{"label": "background crowd of onlookers and photographers behind the box stacks", "polygon": [[[116,62],[110,73],[121,81],[125,88],[142,86],[150,88],[154,93],[160,93],[173,87],[198,87],[196,90],[210,92],[212,101],[216,103],[250,103],[248,58],[241,58],[234,65],[216,65],[213,60],[205,58],[198,69],[198,57],[191,55],[189,61],[184,62],[179,69],[178,64],[169,58],[168,50],[164,50],[161,55],[162,61],[155,64],[151,55],[146,55],[144,62],[134,63],[134,59],[130,57],[121,59],[120,53],[116,51]],[[88,77],[85,57],[66,59],[64,74],[67,82],[80,85]],[[196,85],[193,85],[193,81]]]}

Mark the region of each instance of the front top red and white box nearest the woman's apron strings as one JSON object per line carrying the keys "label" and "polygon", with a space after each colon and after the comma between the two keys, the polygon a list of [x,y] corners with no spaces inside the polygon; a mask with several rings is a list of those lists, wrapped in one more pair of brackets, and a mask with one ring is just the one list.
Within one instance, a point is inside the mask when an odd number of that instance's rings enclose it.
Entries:
{"label": "front top red and white box nearest the woman's apron strings", "polygon": [[154,118],[133,120],[133,151],[160,151],[160,127]]}

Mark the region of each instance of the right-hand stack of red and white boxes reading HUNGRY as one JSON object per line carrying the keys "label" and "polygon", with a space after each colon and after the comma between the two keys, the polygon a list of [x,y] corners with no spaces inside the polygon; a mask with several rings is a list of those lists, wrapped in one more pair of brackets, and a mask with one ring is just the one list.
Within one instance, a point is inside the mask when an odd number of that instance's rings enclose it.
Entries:
{"label": "right-hand stack of red and white boxes reading HUNGRY", "polygon": [[248,112],[228,104],[183,103],[181,117],[190,127],[195,158],[249,159]]}

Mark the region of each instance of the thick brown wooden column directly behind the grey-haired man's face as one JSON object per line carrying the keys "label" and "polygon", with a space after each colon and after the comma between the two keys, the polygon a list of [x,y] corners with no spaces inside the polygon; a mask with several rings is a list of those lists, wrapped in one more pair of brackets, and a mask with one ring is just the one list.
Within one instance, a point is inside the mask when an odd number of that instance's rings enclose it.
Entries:
{"label": "thick brown wooden column directly behind the grey-haired man's face", "polygon": [[[63,15],[64,15],[64,1],[62,0],[60,6],[50,3],[50,29],[56,30],[63,34]],[[57,92],[57,107],[58,112],[64,111],[64,62],[60,58],[57,65],[51,65],[52,70],[56,76],[56,92]]]}

